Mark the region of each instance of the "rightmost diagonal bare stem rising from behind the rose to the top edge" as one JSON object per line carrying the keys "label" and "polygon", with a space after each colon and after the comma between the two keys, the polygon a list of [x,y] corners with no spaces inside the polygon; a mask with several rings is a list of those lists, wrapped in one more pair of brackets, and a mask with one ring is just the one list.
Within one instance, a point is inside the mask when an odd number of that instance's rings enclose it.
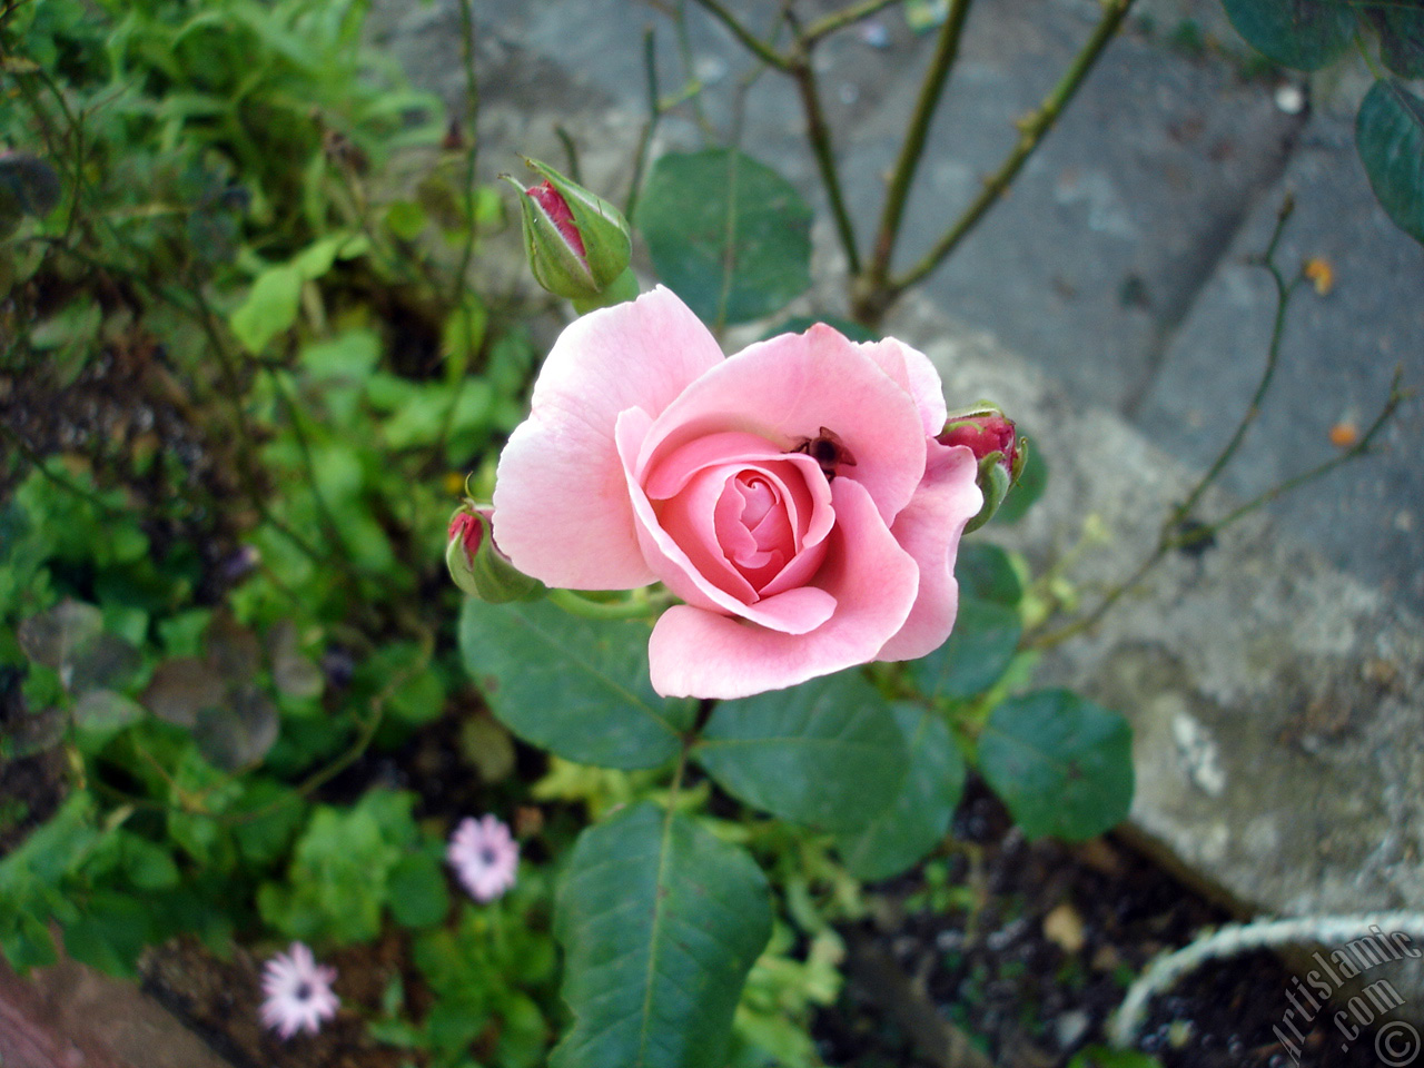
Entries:
{"label": "rightmost diagonal bare stem rising from behind the rose to the top edge", "polygon": [[1064,107],[1067,107],[1068,101],[1072,100],[1074,94],[1082,85],[1088,71],[1096,64],[1098,57],[1102,56],[1102,50],[1112,40],[1131,7],[1132,0],[1105,0],[1102,20],[1094,28],[1082,51],[1074,57],[1072,64],[1064,73],[1062,78],[1059,78],[1058,84],[1044,97],[1042,104],[1020,120],[1018,144],[1014,145],[1004,162],[1000,164],[1000,168],[984,179],[984,188],[980,191],[980,195],[974,198],[974,202],[964,209],[964,214],[960,215],[948,232],[940,238],[918,263],[900,278],[890,279],[880,292],[862,298],[866,313],[876,318],[883,315],[901,292],[934,271],[965,235],[978,225],[984,214],[1002,197],[1028,157],[1042,142],[1044,134],[1058,121],[1058,115],[1062,114]]}

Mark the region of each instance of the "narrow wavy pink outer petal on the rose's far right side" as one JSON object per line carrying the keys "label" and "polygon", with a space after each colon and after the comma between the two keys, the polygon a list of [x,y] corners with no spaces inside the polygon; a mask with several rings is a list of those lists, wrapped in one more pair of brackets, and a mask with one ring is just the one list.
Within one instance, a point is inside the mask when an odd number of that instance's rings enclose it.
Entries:
{"label": "narrow wavy pink outer petal on the rose's far right side", "polygon": [[974,481],[978,464],[964,446],[934,446],[941,456],[890,533],[920,565],[920,592],[904,627],[884,644],[879,661],[913,661],[944,644],[958,611],[954,557],[964,524],[978,514],[984,494]]}

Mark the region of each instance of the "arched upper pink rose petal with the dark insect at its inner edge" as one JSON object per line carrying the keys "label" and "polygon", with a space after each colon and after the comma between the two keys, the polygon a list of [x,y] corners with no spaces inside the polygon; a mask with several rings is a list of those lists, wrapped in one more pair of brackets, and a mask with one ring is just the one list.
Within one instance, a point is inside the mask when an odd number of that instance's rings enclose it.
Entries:
{"label": "arched upper pink rose petal with the dark insect at its inner edge", "polygon": [[864,486],[890,523],[924,473],[921,422],[907,386],[816,325],[758,342],[688,386],[656,416],[638,467],[656,470],[662,457],[718,431],[748,431],[792,450],[826,427],[856,457],[840,476]]}

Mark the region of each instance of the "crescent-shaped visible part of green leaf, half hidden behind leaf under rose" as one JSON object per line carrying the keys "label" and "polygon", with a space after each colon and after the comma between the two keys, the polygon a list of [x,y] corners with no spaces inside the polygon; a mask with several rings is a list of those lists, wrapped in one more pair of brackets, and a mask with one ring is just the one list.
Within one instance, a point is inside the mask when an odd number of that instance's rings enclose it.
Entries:
{"label": "crescent-shaped visible part of green leaf, half hidden behind leaf under rose", "polygon": [[836,849],[856,879],[890,879],[923,860],[950,830],[964,793],[964,758],[946,722],[917,705],[894,706],[910,770],[894,802]]}

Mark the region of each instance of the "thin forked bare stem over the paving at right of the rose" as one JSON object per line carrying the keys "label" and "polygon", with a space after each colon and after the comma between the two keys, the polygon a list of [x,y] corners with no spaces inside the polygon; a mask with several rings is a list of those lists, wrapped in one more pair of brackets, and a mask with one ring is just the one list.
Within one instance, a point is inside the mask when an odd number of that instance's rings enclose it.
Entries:
{"label": "thin forked bare stem over the paving at right of the rose", "polygon": [[1222,518],[1215,523],[1192,523],[1192,511],[1196,508],[1206,493],[1206,488],[1216,481],[1218,476],[1226,468],[1232,457],[1240,450],[1242,440],[1246,436],[1246,430],[1260,414],[1262,404],[1266,399],[1266,392],[1270,389],[1272,379],[1276,375],[1276,367],[1280,360],[1280,342],[1284,333],[1286,310],[1290,306],[1290,299],[1296,292],[1300,281],[1304,278],[1303,273],[1297,273],[1290,282],[1286,282],[1284,275],[1280,273],[1280,268],[1276,266],[1276,245],[1280,241],[1282,231],[1284,229],[1286,219],[1290,218],[1290,212],[1294,204],[1287,197],[1282,204],[1280,212],[1276,216],[1276,228],[1272,232],[1270,244],[1266,246],[1266,252],[1259,258],[1260,266],[1270,272],[1272,281],[1276,285],[1276,313],[1272,323],[1270,332],[1270,347],[1266,353],[1266,366],[1262,370],[1260,382],[1256,384],[1256,392],[1252,394],[1250,403],[1246,412],[1242,414],[1240,423],[1236,426],[1236,431],[1232,434],[1230,440],[1218,454],[1216,460],[1208,468],[1192,491],[1186,496],[1180,504],[1172,507],[1166,520],[1162,523],[1162,530],[1158,534],[1158,544],[1152,553],[1136,567],[1136,570],[1128,575],[1125,580],[1114,585],[1104,594],[1098,605],[1088,612],[1088,615],[1075,619],[1065,627],[1059,627],[1057,631],[1049,631],[1048,634],[1025,635],[1024,648],[1047,649],[1065,642],[1067,639],[1088,631],[1095,627],[1108,611],[1121,601],[1128,592],[1135,590],[1143,578],[1159,564],[1163,557],[1175,550],[1192,548],[1193,545],[1200,545],[1209,543],[1220,531],[1230,527],[1243,515],[1250,514],[1256,508],[1290,493],[1306,483],[1314,481],[1336,467],[1340,467],[1351,460],[1366,456],[1374,444],[1374,440],[1380,436],[1384,427],[1388,424],[1390,419],[1394,416],[1398,406],[1407,399],[1408,392],[1401,387],[1403,370],[1397,369],[1394,377],[1390,382],[1390,393],[1380,407],[1380,413],[1374,417],[1368,430],[1356,441],[1350,449],[1334,456],[1324,463],[1316,464],[1314,467],[1302,471],[1297,476],[1286,478],[1282,483],[1265,490],[1263,493],[1252,497],[1245,504],[1226,513]]}

